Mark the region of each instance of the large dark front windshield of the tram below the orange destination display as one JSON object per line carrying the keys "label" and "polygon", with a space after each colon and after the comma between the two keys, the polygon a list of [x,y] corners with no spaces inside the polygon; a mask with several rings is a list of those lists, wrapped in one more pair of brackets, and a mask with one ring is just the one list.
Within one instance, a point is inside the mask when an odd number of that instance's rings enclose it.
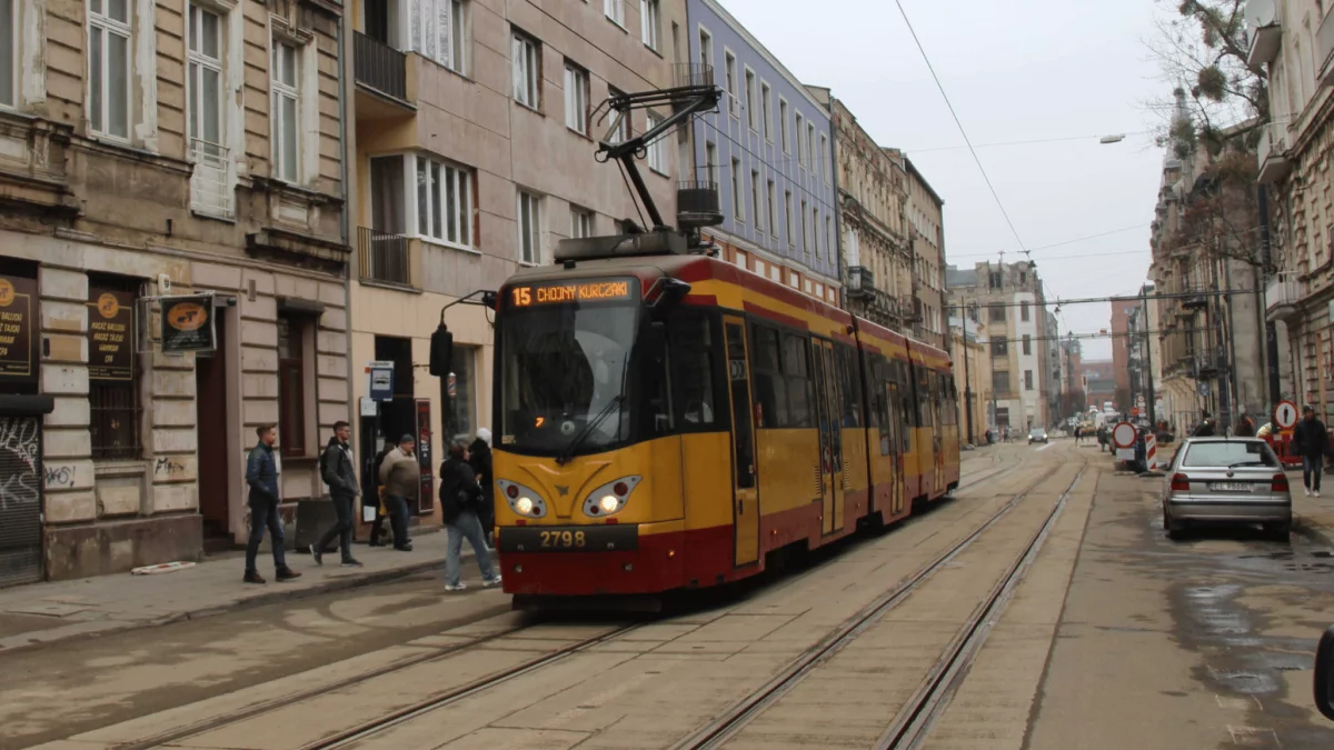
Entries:
{"label": "large dark front windshield of the tram below the orange destination display", "polygon": [[504,450],[559,455],[578,439],[572,455],[580,455],[631,439],[628,388],[639,310],[635,303],[572,302],[502,316]]}

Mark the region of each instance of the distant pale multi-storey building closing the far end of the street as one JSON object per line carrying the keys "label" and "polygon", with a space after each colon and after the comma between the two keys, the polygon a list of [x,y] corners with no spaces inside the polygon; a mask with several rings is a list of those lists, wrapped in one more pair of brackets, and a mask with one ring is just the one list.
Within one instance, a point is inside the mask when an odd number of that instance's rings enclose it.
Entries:
{"label": "distant pale multi-storey building closing the far end of the street", "polygon": [[1027,262],[983,262],[946,268],[950,307],[987,328],[991,356],[988,424],[1027,430],[1049,426],[1049,360],[1039,348],[1046,331],[1042,279]]}

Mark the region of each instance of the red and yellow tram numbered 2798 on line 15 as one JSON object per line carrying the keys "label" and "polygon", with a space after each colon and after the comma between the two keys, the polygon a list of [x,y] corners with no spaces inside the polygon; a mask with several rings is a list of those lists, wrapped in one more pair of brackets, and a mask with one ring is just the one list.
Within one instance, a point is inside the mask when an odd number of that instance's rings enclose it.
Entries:
{"label": "red and yellow tram numbered 2798 on line 15", "polygon": [[738,581],[959,482],[946,352],[703,255],[520,272],[495,363],[516,605]]}

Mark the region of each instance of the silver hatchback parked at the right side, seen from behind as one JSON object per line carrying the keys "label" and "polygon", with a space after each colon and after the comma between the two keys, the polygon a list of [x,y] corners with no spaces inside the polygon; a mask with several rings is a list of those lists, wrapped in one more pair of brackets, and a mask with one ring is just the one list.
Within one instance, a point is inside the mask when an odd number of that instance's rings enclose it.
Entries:
{"label": "silver hatchback parked at the right side, seen from behind", "polygon": [[1163,526],[1179,539],[1198,523],[1259,523],[1274,539],[1293,528],[1293,495],[1273,448],[1258,438],[1187,438],[1173,456]]}

